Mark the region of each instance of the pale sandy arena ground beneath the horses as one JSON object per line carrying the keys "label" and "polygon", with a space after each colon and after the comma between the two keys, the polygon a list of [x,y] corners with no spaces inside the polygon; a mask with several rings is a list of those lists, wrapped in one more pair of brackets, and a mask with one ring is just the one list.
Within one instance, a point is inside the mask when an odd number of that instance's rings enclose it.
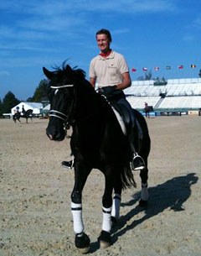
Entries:
{"label": "pale sandy arena ground beneath the horses", "polygon": [[[79,255],[74,245],[70,193],[74,172],[60,162],[69,139],[51,142],[48,120],[0,120],[0,255]],[[93,255],[201,255],[201,117],[147,119],[152,138],[150,201],[138,206],[137,189],[124,191],[113,244],[99,248],[104,180],[93,170],[83,194],[85,232]]]}

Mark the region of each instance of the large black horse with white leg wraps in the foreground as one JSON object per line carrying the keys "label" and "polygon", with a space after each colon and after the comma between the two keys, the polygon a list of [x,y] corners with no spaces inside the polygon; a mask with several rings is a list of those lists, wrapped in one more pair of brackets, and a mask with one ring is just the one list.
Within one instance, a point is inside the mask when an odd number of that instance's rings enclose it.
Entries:
{"label": "large black horse with white leg wraps in the foreground", "polygon": [[[75,185],[71,194],[71,212],[74,221],[75,246],[86,253],[90,238],[84,232],[82,220],[82,191],[90,171],[95,168],[105,175],[102,196],[102,231],[98,238],[102,248],[111,245],[111,221],[119,218],[121,191],[136,186],[131,172],[131,147],[122,132],[111,105],[95,92],[85,79],[85,72],[62,65],[54,71],[43,69],[49,78],[49,125],[46,133],[51,140],[65,138],[64,127],[72,126],[70,147],[75,156]],[[141,170],[142,193],[140,206],[147,206],[147,157],[150,138],[142,114],[133,110],[137,118],[135,148],[142,155],[146,168]],[[114,194],[113,194],[114,192]],[[112,198],[113,196],[113,198]]]}

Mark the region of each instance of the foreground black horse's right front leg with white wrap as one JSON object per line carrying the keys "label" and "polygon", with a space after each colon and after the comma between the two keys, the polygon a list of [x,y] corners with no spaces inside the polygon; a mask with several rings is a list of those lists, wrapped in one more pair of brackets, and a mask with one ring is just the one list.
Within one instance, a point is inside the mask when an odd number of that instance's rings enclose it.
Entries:
{"label": "foreground black horse's right front leg with white wrap", "polygon": [[98,238],[101,248],[107,248],[111,246],[111,206],[112,206],[112,191],[114,185],[114,177],[109,174],[105,174],[106,186],[104,195],[102,197],[102,231]]}

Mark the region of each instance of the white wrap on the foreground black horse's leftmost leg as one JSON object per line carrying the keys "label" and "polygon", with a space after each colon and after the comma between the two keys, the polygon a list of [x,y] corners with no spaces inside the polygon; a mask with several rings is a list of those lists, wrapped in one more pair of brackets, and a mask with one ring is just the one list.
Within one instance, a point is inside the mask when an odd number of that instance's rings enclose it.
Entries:
{"label": "white wrap on the foreground black horse's leftmost leg", "polygon": [[71,212],[73,215],[74,232],[76,234],[84,232],[84,224],[82,221],[82,205],[71,202]]}

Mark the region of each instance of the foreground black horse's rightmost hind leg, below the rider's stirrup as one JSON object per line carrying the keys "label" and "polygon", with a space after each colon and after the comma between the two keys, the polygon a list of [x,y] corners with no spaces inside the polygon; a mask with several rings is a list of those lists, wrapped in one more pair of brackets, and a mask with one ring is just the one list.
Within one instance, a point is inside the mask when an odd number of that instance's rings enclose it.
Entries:
{"label": "foreground black horse's rightmost hind leg, below the rider's stirrup", "polygon": [[143,170],[141,170],[140,176],[141,176],[142,191],[141,191],[141,200],[140,200],[139,204],[142,207],[147,207],[148,197],[149,197],[148,184],[147,184],[147,180],[148,180],[148,169],[147,169],[147,167],[144,168]]}

